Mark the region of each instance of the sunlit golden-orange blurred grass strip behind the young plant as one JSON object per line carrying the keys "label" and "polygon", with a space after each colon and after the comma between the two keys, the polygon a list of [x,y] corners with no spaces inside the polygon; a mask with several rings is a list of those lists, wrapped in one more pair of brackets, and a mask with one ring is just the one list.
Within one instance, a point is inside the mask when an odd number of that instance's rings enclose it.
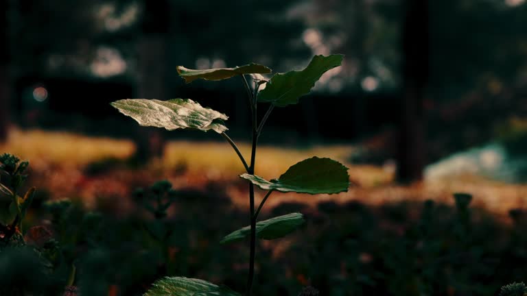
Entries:
{"label": "sunlit golden-orange blurred grass strip behind the young plant", "polygon": [[[249,156],[249,146],[239,144],[242,153]],[[367,165],[353,165],[347,159],[351,145],[316,146],[309,149],[259,147],[257,173],[266,178],[279,177],[290,165],[312,156],[330,157],[347,164],[353,186],[348,193],[338,195],[297,195],[273,193],[266,210],[284,201],[303,202],[315,206],[320,201],[344,203],[358,200],[365,204],[379,205],[401,200],[436,201],[452,204],[452,193],[466,192],[474,197],[473,204],[491,212],[504,215],[511,208],[524,208],[527,186],[504,184],[467,175],[452,179],[427,180],[412,186],[393,184],[389,169]],[[100,175],[87,176],[86,164],[104,158],[128,158],[134,151],[130,140],[91,138],[63,132],[39,130],[12,130],[8,142],[0,152],[15,153],[32,162],[32,185],[47,188],[54,197],[78,197],[87,204],[96,198],[122,198],[129,196],[136,186],[167,179],[176,188],[201,188],[208,182],[225,182],[226,192],[235,206],[247,206],[247,188],[237,178],[243,172],[242,164],[226,143],[170,142],[160,160],[145,169],[131,171],[116,169]],[[261,198],[264,193],[257,192]]]}

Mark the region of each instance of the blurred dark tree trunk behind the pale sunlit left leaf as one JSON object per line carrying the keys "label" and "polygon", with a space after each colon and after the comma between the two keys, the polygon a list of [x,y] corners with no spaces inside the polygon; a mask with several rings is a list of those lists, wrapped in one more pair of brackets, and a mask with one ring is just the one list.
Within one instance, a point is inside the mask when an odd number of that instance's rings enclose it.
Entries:
{"label": "blurred dark tree trunk behind the pale sunlit left leaf", "polygon": [[[167,99],[167,33],[169,3],[166,0],[143,1],[143,34],[137,45],[137,96],[142,99]],[[134,141],[135,160],[146,162],[163,156],[162,130],[137,127]]]}

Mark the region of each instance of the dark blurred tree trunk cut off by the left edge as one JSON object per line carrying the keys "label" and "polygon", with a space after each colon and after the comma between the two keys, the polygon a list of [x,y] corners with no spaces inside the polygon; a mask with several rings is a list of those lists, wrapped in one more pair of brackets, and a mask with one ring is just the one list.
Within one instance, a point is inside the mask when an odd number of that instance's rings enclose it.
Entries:
{"label": "dark blurred tree trunk cut off by the left edge", "polygon": [[8,115],[9,115],[9,51],[8,51],[8,1],[0,3],[0,143],[4,142],[8,136]]}

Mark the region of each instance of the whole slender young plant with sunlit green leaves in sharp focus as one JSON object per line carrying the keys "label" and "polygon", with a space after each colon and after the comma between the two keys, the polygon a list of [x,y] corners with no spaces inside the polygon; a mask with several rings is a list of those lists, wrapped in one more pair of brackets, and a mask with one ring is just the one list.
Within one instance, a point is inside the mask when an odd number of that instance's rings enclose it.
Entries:
{"label": "whole slender young plant with sunlit green leaves in sharp focus", "polygon": [[[266,221],[258,221],[261,208],[271,193],[279,191],[314,195],[340,193],[348,190],[349,175],[347,168],[329,158],[314,157],[298,162],[276,180],[265,180],[263,177],[255,175],[258,138],[272,110],[276,107],[298,103],[298,99],[307,95],[325,72],[340,66],[342,58],[342,55],[314,56],[309,65],[302,71],[277,73],[269,80],[264,79],[261,74],[269,74],[271,70],[260,64],[208,70],[191,70],[178,66],[179,75],[187,83],[196,79],[217,81],[236,76],[241,77],[251,111],[252,147],[248,162],[235,142],[226,134],[228,129],[225,121],[229,117],[218,111],[204,108],[191,99],[171,99],[169,101],[124,99],[111,103],[119,112],[132,117],[140,125],[163,127],[167,130],[191,129],[203,132],[212,130],[223,136],[233,147],[246,171],[240,177],[248,181],[250,225],[225,236],[220,243],[231,243],[249,237],[250,258],[246,295],[251,295],[253,287],[256,239],[280,238],[294,231],[304,222],[303,215],[298,212],[274,217]],[[252,79],[253,88],[249,86],[247,75]],[[265,88],[262,88],[261,86],[264,84]],[[268,109],[258,122],[257,107],[259,103],[267,103]],[[268,190],[258,207],[255,206],[255,186]],[[196,293],[200,293],[200,295],[239,295],[229,288],[187,277],[165,277],[156,282],[146,295],[196,295]]]}

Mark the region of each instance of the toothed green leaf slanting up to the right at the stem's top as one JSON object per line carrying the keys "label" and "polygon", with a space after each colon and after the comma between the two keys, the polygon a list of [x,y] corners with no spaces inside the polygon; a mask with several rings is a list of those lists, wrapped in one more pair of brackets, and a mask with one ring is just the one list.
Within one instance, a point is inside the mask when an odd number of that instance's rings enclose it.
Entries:
{"label": "toothed green leaf slanting up to the right at the stem's top", "polygon": [[302,71],[275,74],[267,82],[266,88],[258,93],[258,101],[272,103],[277,107],[298,103],[298,98],[307,95],[320,76],[342,64],[343,57],[342,55],[314,56]]}

